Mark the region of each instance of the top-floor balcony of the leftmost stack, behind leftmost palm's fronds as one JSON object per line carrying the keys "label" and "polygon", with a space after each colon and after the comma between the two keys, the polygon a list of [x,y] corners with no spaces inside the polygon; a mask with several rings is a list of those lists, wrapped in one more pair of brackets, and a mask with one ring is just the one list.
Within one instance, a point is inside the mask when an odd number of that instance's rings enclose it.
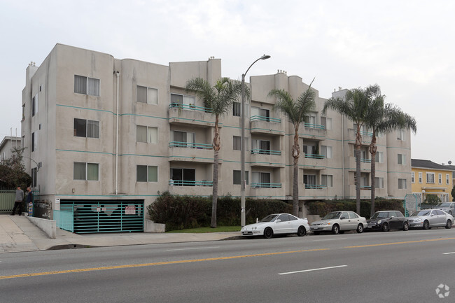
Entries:
{"label": "top-floor balcony of the leftmost stack, behind leftmost palm's fronds", "polygon": [[[169,123],[179,125],[191,125],[200,127],[214,127],[215,116],[211,114],[211,109],[202,106],[188,104],[170,104],[169,105]],[[222,127],[220,123],[218,125]]]}

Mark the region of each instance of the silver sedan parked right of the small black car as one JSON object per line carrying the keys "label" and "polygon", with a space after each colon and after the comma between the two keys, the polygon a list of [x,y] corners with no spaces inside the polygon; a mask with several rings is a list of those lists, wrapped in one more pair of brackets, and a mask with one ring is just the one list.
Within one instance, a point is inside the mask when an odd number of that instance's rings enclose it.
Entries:
{"label": "silver sedan parked right of the small black car", "polygon": [[440,209],[424,209],[423,211],[414,211],[407,218],[407,222],[409,227],[421,227],[423,230],[442,226],[449,229],[454,224],[454,217]]}

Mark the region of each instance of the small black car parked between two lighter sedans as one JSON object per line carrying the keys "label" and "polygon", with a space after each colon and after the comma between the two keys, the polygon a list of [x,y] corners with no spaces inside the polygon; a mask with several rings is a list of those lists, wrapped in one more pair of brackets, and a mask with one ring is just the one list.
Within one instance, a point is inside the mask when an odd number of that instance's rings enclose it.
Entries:
{"label": "small black car parked between two lighter sedans", "polygon": [[368,230],[409,230],[407,218],[401,211],[377,211],[367,220]]}

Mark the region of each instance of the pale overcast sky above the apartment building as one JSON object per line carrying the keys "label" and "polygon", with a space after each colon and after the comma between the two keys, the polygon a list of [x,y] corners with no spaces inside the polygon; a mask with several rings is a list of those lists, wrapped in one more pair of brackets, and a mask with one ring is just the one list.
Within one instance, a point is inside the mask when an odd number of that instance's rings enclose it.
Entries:
{"label": "pale overcast sky above the apartment building", "polygon": [[[377,83],[414,116],[412,157],[455,163],[455,1],[0,0],[0,136],[18,129],[29,62],[56,43],[118,59],[222,59],[223,76],[302,77],[323,98]],[[0,139],[1,139],[0,138]]]}

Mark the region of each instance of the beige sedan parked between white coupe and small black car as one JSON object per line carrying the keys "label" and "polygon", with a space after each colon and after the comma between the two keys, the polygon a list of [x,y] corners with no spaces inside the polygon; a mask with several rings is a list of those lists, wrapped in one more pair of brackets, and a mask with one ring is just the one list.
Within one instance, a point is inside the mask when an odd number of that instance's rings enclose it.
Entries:
{"label": "beige sedan parked between white coupe and small black car", "polygon": [[353,211],[332,211],[325,215],[324,218],[311,223],[309,229],[314,234],[321,232],[332,232],[332,234],[343,233],[346,230],[356,230],[358,233],[363,232],[367,227],[367,220],[358,216]]}

